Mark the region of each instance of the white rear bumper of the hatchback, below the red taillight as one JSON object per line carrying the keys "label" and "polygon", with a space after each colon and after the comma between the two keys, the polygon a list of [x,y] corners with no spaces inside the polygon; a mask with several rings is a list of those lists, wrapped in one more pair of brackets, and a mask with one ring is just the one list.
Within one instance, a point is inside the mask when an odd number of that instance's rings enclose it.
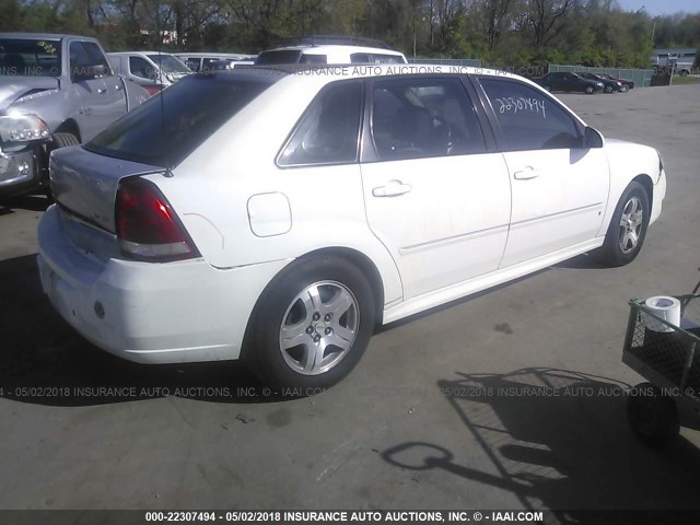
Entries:
{"label": "white rear bumper of the hatchback, below the red taillight", "polygon": [[63,235],[56,206],[38,242],[42,288],[58,313],[97,347],[141,363],[237,359],[255,302],[287,264],[103,261]]}

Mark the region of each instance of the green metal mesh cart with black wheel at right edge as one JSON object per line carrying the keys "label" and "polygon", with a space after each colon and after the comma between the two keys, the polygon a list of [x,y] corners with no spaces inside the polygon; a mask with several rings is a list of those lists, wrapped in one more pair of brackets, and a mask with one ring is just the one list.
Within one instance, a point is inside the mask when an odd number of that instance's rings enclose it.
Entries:
{"label": "green metal mesh cart with black wheel at right edge", "polygon": [[[691,294],[676,295],[681,323],[675,326],[644,301],[630,301],[622,362],[646,380],[628,397],[628,418],[637,436],[661,448],[678,435],[680,425],[700,423],[700,282]],[[649,329],[654,323],[656,331]],[[668,331],[658,331],[663,325]]]}

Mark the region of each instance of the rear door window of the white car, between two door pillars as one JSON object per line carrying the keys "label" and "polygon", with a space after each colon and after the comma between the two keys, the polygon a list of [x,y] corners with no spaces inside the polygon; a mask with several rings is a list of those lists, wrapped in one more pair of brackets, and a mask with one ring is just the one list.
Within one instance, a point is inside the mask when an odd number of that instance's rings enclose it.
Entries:
{"label": "rear door window of the white car, between two door pillars", "polygon": [[382,161],[486,152],[474,106],[456,78],[375,81],[372,136]]}

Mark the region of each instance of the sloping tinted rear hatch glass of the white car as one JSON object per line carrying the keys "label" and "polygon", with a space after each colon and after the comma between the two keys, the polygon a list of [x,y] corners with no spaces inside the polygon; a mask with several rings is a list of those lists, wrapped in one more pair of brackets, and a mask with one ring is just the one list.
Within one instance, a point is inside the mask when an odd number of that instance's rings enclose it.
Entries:
{"label": "sloping tinted rear hatch glass of the white car", "polygon": [[85,144],[116,159],[174,167],[271,85],[260,79],[191,75],[153,96]]}

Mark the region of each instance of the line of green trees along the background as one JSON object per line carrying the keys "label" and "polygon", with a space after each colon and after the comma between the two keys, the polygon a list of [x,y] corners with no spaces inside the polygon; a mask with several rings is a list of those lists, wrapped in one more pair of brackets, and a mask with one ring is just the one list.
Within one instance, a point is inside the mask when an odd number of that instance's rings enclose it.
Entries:
{"label": "line of green trees along the background", "polygon": [[0,31],[92,35],[108,50],[250,54],[354,35],[408,57],[495,67],[649,67],[655,47],[700,45],[700,13],[651,16],[616,0],[0,0]]}

